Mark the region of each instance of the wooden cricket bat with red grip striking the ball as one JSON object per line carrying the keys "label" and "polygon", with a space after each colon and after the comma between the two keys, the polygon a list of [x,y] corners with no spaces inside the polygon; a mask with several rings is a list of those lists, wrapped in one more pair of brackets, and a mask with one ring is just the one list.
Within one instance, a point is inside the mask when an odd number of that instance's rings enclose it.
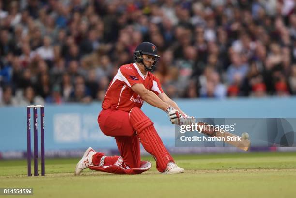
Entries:
{"label": "wooden cricket bat with red grip striking the ball", "polygon": [[[208,130],[210,129],[210,127],[200,127],[200,125],[208,125],[207,123],[205,122],[198,122],[197,125],[199,126],[199,129],[201,129],[200,131],[203,133],[203,134],[206,134],[208,136],[212,136],[212,137],[224,137],[224,142],[226,142],[227,144],[230,144],[232,146],[235,146],[241,150],[244,150],[244,151],[248,151],[249,148],[250,148],[250,140],[249,139],[242,139],[241,137],[235,135],[235,134],[232,134],[228,131],[225,131],[224,133],[222,133],[221,131],[213,131],[213,130]],[[238,140],[240,139],[240,140]]]}

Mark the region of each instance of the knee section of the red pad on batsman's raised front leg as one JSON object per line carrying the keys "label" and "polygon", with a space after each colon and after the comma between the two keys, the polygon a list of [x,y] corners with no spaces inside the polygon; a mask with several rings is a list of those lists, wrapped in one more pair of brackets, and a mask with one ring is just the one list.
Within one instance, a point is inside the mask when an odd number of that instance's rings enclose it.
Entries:
{"label": "knee section of the red pad on batsman's raised front leg", "polygon": [[133,107],[130,111],[130,122],[137,133],[153,125],[153,122],[138,107]]}

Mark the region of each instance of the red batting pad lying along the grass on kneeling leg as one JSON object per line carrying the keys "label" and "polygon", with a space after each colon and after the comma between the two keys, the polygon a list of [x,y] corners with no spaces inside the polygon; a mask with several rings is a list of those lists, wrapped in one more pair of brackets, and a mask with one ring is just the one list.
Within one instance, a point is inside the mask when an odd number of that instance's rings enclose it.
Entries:
{"label": "red batting pad lying along the grass on kneeling leg", "polygon": [[140,168],[123,168],[122,163],[123,163],[122,157],[119,157],[116,163],[113,165],[103,166],[103,167],[89,165],[89,169],[101,171],[101,172],[121,174],[121,175],[122,174],[134,175],[134,174],[141,174],[142,172],[149,170],[152,166],[151,162],[141,161]]}

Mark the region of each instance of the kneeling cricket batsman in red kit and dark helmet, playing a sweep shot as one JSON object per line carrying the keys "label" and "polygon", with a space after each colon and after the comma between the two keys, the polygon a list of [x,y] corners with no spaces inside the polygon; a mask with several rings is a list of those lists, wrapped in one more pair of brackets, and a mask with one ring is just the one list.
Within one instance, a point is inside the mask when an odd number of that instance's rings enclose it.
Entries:
{"label": "kneeling cricket batsman in red kit and dark helmet, playing a sweep shot", "polygon": [[141,161],[140,143],[153,155],[161,173],[184,172],[166,150],[153,122],[141,110],[143,102],[164,110],[173,124],[195,123],[162,90],[151,71],[156,66],[157,48],[143,42],[134,51],[135,63],[122,65],[106,91],[98,123],[106,136],[115,137],[120,156],[105,156],[89,147],[75,168],[79,175],[85,168],[115,174],[140,174],[151,168]]}

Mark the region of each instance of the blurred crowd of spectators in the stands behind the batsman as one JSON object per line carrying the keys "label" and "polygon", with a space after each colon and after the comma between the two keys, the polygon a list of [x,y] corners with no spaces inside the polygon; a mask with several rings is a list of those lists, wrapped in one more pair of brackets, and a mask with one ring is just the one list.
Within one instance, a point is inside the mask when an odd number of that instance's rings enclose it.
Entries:
{"label": "blurred crowd of spectators in the stands behind the batsman", "polygon": [[169,97],[296,94],[294,0],[0,0],[0,106],[102,101],[143,41]]}

